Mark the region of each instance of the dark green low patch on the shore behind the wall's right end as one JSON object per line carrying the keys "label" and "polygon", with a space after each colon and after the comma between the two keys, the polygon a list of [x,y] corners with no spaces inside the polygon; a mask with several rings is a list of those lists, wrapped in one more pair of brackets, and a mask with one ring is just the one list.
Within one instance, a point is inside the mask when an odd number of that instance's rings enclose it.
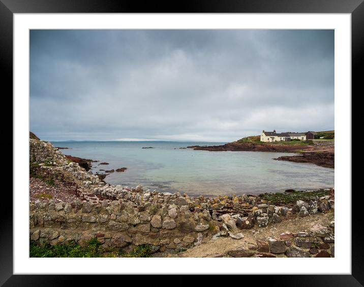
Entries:
{"label": "dark green low patch on the shore behind the wall's right end", "polygon": [[271,204],[287,204],[296,203],[297,200],[308,201],[315,196],[321,197],[329,195],[329,190],[317,190],[317,191],[293,191],[284,193],[263,193],[259,195],[263,200],[270,202]]}

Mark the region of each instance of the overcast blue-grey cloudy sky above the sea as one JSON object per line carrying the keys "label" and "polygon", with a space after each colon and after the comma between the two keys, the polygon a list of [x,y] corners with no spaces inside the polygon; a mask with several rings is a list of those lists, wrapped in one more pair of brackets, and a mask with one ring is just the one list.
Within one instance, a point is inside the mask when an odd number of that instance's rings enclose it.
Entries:
{"label": "overcast blue-grey cloudy sky above the sea", "polygon": [[30,47],[45,140],[334,129],[333,30],[31,30]]}

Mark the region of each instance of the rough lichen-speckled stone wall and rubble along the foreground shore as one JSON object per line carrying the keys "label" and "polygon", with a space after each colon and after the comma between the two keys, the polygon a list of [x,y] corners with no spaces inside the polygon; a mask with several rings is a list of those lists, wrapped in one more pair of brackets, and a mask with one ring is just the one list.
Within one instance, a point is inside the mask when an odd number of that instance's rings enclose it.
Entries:
{"label": "rough lichen-speckled stone wall and rubble along the foreground shore", "polygon": [[[83,240],[96,237],[105,249],[148,244],[155,253],[168,249],[181,252],[211,240],[230,238],[245,242],[248,230],[261,232],[290,220],[300,222],[307,218],[310,221],[312,217],[314,226],[317,214],[333,215],[335,210],[333,190],[292,191],[281,196],[190,197],[178,192],[144,191],[141,186],[113,186],[100,181],[78,163],[70,162],[49,142],[29,139],[29,147],[32,177],[48,183],[46,186],[32,180],[29,184],[34,195],[29,199],[30,239],[39,244],[63,244],[69,240],[82,244]],[[57,189],[61,194],[69,192],[73,196],[58,196]],[[40,194],[42,198],[36,196]],[[292,240],[296,240],[294,248],[289,242]],[[266,244],[257,241],[259,253],[252,257],[275,257],[275,254],[333,257],[333,252],[318,256],[315,250],[308,251],[309,245],[321,243],[333,247],[333,225],[283,238],[267,236],[259,241]],[[246,257],[247,254],[235,252],[229,256]]]}

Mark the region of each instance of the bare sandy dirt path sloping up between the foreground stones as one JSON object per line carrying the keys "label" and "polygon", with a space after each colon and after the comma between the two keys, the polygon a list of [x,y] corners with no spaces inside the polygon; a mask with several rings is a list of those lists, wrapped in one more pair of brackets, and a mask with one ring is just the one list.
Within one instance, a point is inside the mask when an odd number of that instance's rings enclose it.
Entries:
{"label": "bare sandy dirt path sloping up between the foreground stones", "polygon": [[[330,211],[326,214],[317,213],[314,216],[305,218],[294,218],[291,220],[284,220],[281,223],[271,224],[267,228],[254,228],[251,230],[242,230],[244,238],[236,240],[231,237],[219,237],[216,240],[210,240],[198,246],[190,248],[185,252],[175,254],[174,252],[167,251],[164,253],[156,254],[155,257],[221,257],[228,250],[232,249],[248,249],[248,244],[256,244],[256,240],[261,239],[267,241],[267,237],[275,237],[279,239],[279,235],[284,232],[297,233],[300,231],[309,230],[313,225],[320,223],[323,226],[328,226],[331,221],[334,221],[334,212]],[[283,255],[277,255],[280,257]]]}

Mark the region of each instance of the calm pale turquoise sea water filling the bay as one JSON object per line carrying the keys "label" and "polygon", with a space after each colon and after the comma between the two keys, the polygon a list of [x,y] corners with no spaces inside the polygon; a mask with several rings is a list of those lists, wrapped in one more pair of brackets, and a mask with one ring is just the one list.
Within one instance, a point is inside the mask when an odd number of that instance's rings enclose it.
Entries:
{"label": "calm pale turquoise sea water filling the bay", "polygon": [[125,172],[114,172],[106,176],[105,182],[115,185],[133,187],[141,184],[150,190],[207,196],[329,188],[334,184],[334,170],[331,168],[273,160],[282,155],[292,154],[179,149],[195,145],[223,144],[218,142],[52,143],[55,147],[72,148],[60,150],[64,154],[110,163],[93,163],[94,173],[100,169],[127,167]]}

